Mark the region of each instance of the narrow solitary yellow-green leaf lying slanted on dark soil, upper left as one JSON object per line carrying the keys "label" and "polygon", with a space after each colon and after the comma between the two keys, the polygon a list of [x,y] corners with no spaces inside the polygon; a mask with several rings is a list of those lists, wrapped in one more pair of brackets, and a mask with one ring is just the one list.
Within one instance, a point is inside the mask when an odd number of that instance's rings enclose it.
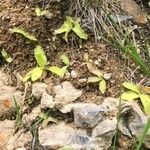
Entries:
{"label": "narrow solitary yellow-green leaf lying slanted on dark soil, upper left", "polygon": [[30,33],[26,32],[23,29],[20,29],[18,27],[14,27],[12,29],[12,32],[22,34],[25,38],[27,38],[31,41],[37,41],[37,38],[35,36],[31,35]]}

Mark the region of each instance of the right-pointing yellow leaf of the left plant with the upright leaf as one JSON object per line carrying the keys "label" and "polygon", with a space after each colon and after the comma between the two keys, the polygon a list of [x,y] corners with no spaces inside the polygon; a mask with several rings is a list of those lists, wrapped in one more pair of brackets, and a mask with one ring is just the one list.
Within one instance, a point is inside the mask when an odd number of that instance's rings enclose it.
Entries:
{"label": "right-pointing yellow leaf of the left plant with the upright leaf", "polygon": [[67,67],[68,66],[64,66],[62,68],[59,68],[57,66],[51,66],[48,68],[48,70],[51,71],[52,73],[58,75],[59,77],[63,78],[66,71],[67,71]]}

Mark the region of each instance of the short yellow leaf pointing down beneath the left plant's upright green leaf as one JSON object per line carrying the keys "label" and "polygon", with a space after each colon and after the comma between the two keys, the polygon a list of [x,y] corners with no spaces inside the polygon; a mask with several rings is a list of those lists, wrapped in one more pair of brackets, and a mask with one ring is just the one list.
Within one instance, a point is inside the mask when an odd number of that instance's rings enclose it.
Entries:
{"label": "short yellow leaf pointing down beneath the left plant's upright green leaf", "polygon": [[43,74],[43,68],[41,67],[37,67],[34,68],[31,72],[31,80],[34,82],[36,80],[38,80]]}

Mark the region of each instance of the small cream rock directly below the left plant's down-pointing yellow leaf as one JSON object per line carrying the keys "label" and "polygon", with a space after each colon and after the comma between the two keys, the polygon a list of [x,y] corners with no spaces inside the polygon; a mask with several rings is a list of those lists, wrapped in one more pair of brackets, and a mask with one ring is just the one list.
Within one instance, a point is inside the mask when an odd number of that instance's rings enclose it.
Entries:
{"label": "small cream rock directly below the left plant's down-pointing yellow leaf", "polygon": [[47,84],[36,82],[32,85],[32,95],[35,98],[40,99],[42,97],[43,92],[45,92],[47,88],[48,88]]}

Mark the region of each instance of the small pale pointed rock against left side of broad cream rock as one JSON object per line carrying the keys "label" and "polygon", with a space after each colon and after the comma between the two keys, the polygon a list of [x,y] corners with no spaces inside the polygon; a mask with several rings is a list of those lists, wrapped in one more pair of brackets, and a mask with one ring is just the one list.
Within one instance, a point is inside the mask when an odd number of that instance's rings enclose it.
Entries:
{"label": "small pale pointed rock against left side of broad cream rock", "polygon": [[55,105],[53,96],[49,95],[46,91],[43,92],[41,98],[41,108],[53,108]]}

